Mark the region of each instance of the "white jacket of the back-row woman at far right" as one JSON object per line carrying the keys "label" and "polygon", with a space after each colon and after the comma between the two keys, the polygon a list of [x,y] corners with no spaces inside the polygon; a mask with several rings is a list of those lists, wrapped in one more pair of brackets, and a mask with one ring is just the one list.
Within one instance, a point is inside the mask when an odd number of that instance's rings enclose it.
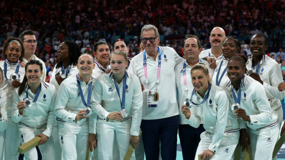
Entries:
{"label": "white jacket of the back-row woman at far right", "polygon": [[[252,56],[248,59],[247,67],[249,69],[251,68],[252,59]],[[254,67],[255,70],[256,67],[257,66]],[[279,64],[274,59],[264,54],[259,64],[258,74],[263,81],[263,87],[265,88],[271,109],[280,109],[282,107],[280,99],[285,97],[285,90],[282,92],[278,91],[279,83],[283,82]]]}

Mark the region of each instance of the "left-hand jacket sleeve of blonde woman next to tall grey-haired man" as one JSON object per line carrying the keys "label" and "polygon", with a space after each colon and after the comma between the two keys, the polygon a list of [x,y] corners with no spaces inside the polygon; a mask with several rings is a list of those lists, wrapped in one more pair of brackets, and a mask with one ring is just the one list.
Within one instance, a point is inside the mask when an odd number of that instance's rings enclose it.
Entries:
{"label": "left-hand jacket sleeve of blonde woman next to tall grey-haired man", "polygon": [[102,115],[104,116],[104,120],[107,120],[107,116],[110,114],[107,112],[101,105],[102,101],[102,96],[103,96],[103,85],[101,83],[101,80],[96,80],[94,84],[94,88],[92,90],[92,98],[91,98],[91,109],[97,114],[97,115]]}

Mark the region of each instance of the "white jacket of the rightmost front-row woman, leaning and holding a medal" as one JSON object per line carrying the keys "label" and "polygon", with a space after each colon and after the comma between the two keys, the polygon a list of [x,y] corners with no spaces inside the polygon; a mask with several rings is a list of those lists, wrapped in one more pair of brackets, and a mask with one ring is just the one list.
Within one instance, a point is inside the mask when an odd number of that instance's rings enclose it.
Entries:
{"label": "white jacket of the rightmost front-row woman, leaning and holding a medal", "polygon": [[[223,89],[229,97],[230,104],[234,104],[235,100],[232,95],[231,84],[232,83],[229,80],[228,83],[223,86]],[[241,118],[238,118],[240,129],[248,127],[258,134],[260,128],[278,124],[277,114],[275,112],[272,113],[265,89],[262,87],[261,83],[244,74],[240,83],[240,88],[241,108],[245,110],[248,116],[250,116],[250,122],[244,122]],[[236,97],[238,97],[237,91],[234,88],[233,90]]]}

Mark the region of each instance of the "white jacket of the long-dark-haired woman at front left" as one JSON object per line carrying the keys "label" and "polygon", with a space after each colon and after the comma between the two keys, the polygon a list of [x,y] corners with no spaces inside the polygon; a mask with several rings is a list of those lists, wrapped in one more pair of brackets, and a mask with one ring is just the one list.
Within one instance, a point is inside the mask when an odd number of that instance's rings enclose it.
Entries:
{"label": "white jacket of the long-dark-haired woman at front left", "polygon": [[[56,89],[50,83],[41,80],[41,91],[38,95],[36,102],[33,102],[31,107],[27,107],[23,110],[23,115],[19,114],[17,104],[26,98],[26,91],[28,89],[28,83],[22,94],[19,96],[19,87],[14,90],[13,93],[13,110],[12,120],[19,125],[30,128],[41,128],[46,125],[46,129],[43,134],[50,137],[52,134],[53,125],[55,124],[54,104],[56,97]],[[29,89],[28,96],[34,101],[34,93]]]}

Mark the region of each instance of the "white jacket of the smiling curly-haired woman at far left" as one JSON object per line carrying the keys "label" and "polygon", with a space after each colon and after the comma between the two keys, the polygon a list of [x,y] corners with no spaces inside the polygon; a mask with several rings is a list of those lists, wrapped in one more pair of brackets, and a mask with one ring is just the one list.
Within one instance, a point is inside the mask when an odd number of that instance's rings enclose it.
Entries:
{"label": "white jacket of the smiling curly-haired woman at far left", "polygon": [[[4,62],[6,61],[7,64],[7,73],[6,76],[9,80],[5,78],[5,73],[4,73]],[[10,80],[10,75],[15,73],[18,62],[17,63],[11,63],[7,59],[5,61],[0,62],[0,67],[3,70],[3,76],[4,80],[3,83],[1,84],[1,89],[7,94],[7,116],[10,118],[11,117],[11,110],[12,110],[12,104],[13,104],[13,92],[14,92],[14,87],[11,85],[12,80]],[[25,76],[25,68],[22,68],[21,66],[19,67],[19,82],[22,83],[24,76]]]}

